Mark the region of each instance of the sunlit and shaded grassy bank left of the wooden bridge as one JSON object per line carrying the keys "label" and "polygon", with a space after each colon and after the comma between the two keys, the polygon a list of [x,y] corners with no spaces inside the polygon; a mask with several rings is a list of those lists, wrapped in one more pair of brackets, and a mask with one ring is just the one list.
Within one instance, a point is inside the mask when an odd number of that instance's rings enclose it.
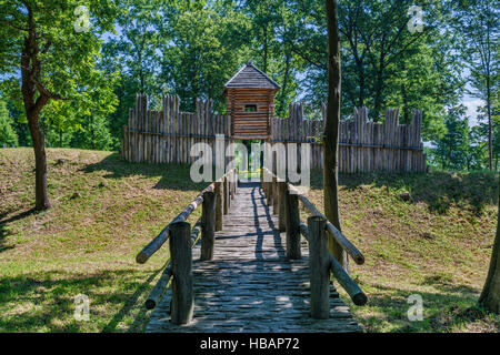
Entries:
{"label": "sunlit and shaded grassy bank left of the wooden bridge", "polygon": [[[141,332],[168,248],[144,265],[134,256],[206,184],[188,166],[49,149],[53,207],[34,213],[33,168],[31,149],[0,150],[0,332]],[[89,322],[74,321],[78,294]]]}

